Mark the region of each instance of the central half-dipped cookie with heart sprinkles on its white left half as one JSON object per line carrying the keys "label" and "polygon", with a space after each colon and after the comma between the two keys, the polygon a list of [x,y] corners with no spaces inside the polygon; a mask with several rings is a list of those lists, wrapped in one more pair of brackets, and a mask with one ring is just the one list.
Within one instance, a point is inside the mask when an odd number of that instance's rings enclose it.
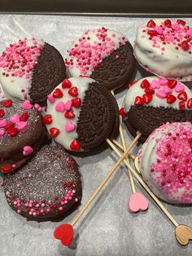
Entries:
{"label": "central half-dipped cookie with heart sprinkles on its white left half", "polygon": [[119,126],[118,105],[111,93],[88,77],[64,79],[48,95],[43,118],[51,138],[64,148],[96,148]]}

